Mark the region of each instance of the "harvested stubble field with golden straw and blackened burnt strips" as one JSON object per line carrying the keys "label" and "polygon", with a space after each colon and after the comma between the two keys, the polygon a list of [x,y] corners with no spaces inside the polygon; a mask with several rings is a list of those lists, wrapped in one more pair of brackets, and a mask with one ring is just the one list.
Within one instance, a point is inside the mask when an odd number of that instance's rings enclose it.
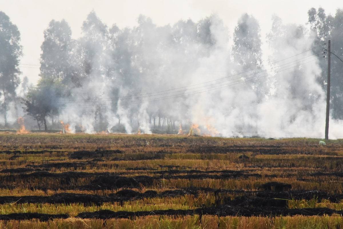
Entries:
{"label": "harvested stubble field with golden straw and blackened burnt strips", "polygon": [[0,133],[1,228],[343,228],[343,140]]}

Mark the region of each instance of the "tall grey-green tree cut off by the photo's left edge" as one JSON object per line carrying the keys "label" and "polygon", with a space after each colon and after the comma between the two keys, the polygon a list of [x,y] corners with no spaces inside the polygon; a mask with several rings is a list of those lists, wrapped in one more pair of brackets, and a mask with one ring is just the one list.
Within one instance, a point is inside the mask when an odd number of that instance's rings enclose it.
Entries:
{"label": "tall grey-green tree cut off by the photo's left edge", "polygon": [[16,97],[15,89],[20,84],[19,58],[22,56],[20,32],[10,18],[0,11],[0,103],[5,126],[9,103]]}

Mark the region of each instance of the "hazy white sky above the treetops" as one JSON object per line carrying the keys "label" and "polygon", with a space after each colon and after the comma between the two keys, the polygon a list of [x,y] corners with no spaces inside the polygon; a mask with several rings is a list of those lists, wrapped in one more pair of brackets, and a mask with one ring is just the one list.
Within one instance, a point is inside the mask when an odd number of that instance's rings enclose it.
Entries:
{"label": "hazy white sky above the treetops", "polygon": [[323,7],[327,13],[334,14],[343,8],[339,0],[0,0],[0,11],[5,12],[17,25],[21,33],[24,56],[22,64],[37,64],[33,68],[21,68],[22,76],[27,75],[36,82],[39,73],[40,45],[43,31],[52,20],[65,19],[77,38],[81,33],[82,22],[94,10],[108,26],[134,26],[139,14],[152,18],[157,25],[173,24],[180,19],[197,21],[212,13],[218,14],[232,32],[238,18],[243,13],[255,16],[261,25],[262,39],[271,26],[273,14],[285,23],[307,21],[307,11],[311,7]]}

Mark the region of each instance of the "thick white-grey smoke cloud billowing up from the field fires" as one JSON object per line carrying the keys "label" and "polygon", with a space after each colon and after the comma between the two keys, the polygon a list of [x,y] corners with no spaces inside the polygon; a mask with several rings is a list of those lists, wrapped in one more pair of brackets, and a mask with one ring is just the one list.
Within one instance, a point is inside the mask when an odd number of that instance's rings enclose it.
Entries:
{"label": "thick white-grey smoke cloud billowing up from the field fires", "polygon": [[[321,48],[310,50],[315,38],[303,26],[274,17],[262,50],[247,14],[233,38],[216,15],[161,27],[140,16],[136,27],[108,29],[91,14],[72,48],[81,85],[59,101],[72,130],[150,134],[160,119],[176,133],[197,123],[219,136],[323,137],[326,94],[311,56]],[[330,138],[343,137],[343,121],[330,122]]]}

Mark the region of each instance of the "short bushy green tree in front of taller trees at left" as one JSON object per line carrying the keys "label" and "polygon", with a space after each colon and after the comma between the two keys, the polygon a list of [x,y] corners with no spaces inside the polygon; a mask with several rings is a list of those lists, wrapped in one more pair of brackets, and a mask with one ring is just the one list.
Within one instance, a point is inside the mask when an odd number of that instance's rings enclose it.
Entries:
{"label": "short bushy green tree in front of taller trees at left", "polygon": [[38,128],[44,124],[44,130],[47,130],[46,117],[57,115],[60,104],[58,98],[64,91],[64,85],[61,81],[52,79],[41,79],[37,87],[30,88],[26,98],[23,99],[25,105],[24,112],[37,120]]}

